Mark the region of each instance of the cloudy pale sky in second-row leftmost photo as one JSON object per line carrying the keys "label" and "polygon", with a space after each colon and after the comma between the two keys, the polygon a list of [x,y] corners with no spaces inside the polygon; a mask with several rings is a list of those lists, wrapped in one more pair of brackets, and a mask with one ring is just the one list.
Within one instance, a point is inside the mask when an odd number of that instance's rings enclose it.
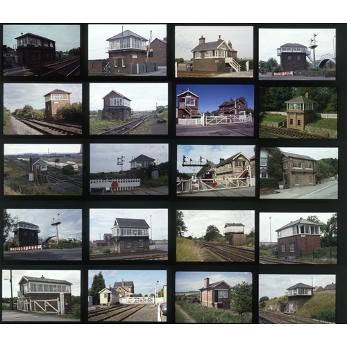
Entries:
{"label": "cloudy pale sky in second-row leftmost photo", "polygon": [[42,110],[45,108],[44,95],[56,89],[71,93],[71,103],[82,102],[82,85],[78,83],[5,83],[3,105],[11,112],[25,105]]}

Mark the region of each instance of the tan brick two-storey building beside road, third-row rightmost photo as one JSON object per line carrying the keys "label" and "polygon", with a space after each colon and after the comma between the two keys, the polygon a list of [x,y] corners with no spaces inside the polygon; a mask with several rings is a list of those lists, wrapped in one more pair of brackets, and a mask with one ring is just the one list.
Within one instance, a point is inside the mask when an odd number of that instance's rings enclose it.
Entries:
{"label": "tan brick two-storey building beside road, third-row rightmost photo", "polygon": [[313,158],[282,152],[281,164],[286,187],[316,185],[316,160]]}

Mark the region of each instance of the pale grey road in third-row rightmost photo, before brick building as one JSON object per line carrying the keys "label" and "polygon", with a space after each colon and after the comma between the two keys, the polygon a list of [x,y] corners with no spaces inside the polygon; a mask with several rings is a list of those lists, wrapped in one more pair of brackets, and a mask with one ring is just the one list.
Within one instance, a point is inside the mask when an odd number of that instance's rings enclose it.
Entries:
{"label": "pale grey road in third-row rightmost photo, before brick building", "polygon": [[337,199],[337,182],[328,182],[321,185],[277,189],[276,194],[260,195],[260,198],[302,198],[302,199]]}

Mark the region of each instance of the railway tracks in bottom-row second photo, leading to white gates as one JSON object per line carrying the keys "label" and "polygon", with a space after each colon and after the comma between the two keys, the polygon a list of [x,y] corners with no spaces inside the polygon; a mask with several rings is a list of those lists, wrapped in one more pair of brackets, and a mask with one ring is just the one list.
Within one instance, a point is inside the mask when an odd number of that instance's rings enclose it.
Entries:
{"label": "railway tracks in bottom-row second photo, leading to white gates", "polygon": [[132,314],[141,310],[145,305],[117,305],[99,312],[88,312],[88,321],[103,322],[103,321],[124,321]]}

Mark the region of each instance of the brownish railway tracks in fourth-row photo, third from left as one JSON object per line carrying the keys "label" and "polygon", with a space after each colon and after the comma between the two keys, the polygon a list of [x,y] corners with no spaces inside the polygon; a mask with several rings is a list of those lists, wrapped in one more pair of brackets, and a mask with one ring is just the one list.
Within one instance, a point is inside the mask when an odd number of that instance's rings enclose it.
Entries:
{"label": "brownish railway tracks in fourth-row photo, third from left", "polygon": [[198,247],[208,253],[211,262],[254,262],[254,250],[230,246],[226,244],[212,244],[212,242],[198,242]]}

